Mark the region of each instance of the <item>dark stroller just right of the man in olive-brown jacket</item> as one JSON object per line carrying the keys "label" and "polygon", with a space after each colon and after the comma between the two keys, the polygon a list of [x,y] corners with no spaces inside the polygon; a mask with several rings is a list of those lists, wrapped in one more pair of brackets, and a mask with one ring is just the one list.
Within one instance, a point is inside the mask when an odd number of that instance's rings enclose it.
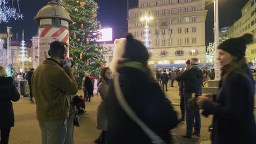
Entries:
{"label": "dark stroller just right of the man in olive-brown jacket", "polygon": [[72,103],[76,107],[78,115],[86,112],[85,111],[85,99],[82,95],[80,95],[80,96],[75,95],[75,97],[72,99]]}

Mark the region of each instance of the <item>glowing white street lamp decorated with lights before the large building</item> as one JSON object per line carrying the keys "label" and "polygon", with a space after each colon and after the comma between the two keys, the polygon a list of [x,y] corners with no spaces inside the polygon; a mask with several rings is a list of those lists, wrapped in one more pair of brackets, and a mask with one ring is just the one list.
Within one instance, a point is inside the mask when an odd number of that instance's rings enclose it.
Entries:
{"label": "glowing white street lamp decorated with lights before the large building", "polygon": [[144,42],[144,45],[147,47],[148,52],[152,53],[152,50],[150,50],[150,46],[151,46],[150,41],[151,40],[149,39],[150,34],[149,34],[149,26],[148,26],[148,22],[150,20],[153,20],[153,17],[150,16],[149,14],[147,14],[147,13],[144,16],[141,17],[141,21],[146,21],[146,25],[144,27],[144,34],[143,34],[145,39],[143,39],[142,41]]}

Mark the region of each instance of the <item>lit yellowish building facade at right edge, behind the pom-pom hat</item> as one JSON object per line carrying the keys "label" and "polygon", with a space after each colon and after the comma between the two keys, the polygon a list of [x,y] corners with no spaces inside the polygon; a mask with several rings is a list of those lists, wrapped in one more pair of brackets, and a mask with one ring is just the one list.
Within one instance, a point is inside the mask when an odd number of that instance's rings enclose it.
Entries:
{"label": "lit yellowish building facade at right edge, behind the pom-pom hat", "polygon": [[[256,33],[256,3],[255,0],[249,0],[241,10],[242,17],[228,29],[228,38],[240,37],[241,35],[251,32]],[[247,62],[256,64],[256,38],[254,43],[247,46]]]}

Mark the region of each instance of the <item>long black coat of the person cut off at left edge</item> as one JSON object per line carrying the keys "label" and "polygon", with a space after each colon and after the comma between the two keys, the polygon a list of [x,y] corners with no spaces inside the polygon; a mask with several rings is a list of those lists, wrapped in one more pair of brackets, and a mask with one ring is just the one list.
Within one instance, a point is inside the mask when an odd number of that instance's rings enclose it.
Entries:
{"label": "long black coat of the person cut off at left edge", "polygon": [[12,77],[0,77],[0,128],[14,127],[14,112],[11,101],[18,101],[20,94]]}

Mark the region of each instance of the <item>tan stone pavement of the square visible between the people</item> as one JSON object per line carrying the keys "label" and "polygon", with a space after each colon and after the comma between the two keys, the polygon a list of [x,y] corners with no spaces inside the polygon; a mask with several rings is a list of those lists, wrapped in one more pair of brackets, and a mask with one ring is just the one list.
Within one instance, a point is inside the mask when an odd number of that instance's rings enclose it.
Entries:
{"label": "tan stone pavement of the square visible between the people", "polygon": [[[179,103],[177,82],[174,87],[168,86],[169,91],[167,97],[173,103]],[[83,95],[83,91],[79,91],[78,95]],[[75,144],[91,144],[97,139],[100,131],[96,129],[96,109],[101,99],[95,94],[91,98],[91,103],[86,103],[86,113],[79,115],[80,127],[74,128]],[[11,128],[9,143],[10,144],[37,144],[41,143],[40,129],[36,119],[36,105],[31,104],[27,98],[21,98],[18,102],[13,103],[15,113],[15,127]],[[179,106],[174,106],[180,117]],[[255,114],[255,112],[254,112]],[[185,131],[185,123],[179,124],[171,131],[176,144],[178,143],[200,143],[210,140],[208,126],[211,124],[211,118],[201,117],[201,137],[193,136],[193,139],[185,139],[181,137]]]}

